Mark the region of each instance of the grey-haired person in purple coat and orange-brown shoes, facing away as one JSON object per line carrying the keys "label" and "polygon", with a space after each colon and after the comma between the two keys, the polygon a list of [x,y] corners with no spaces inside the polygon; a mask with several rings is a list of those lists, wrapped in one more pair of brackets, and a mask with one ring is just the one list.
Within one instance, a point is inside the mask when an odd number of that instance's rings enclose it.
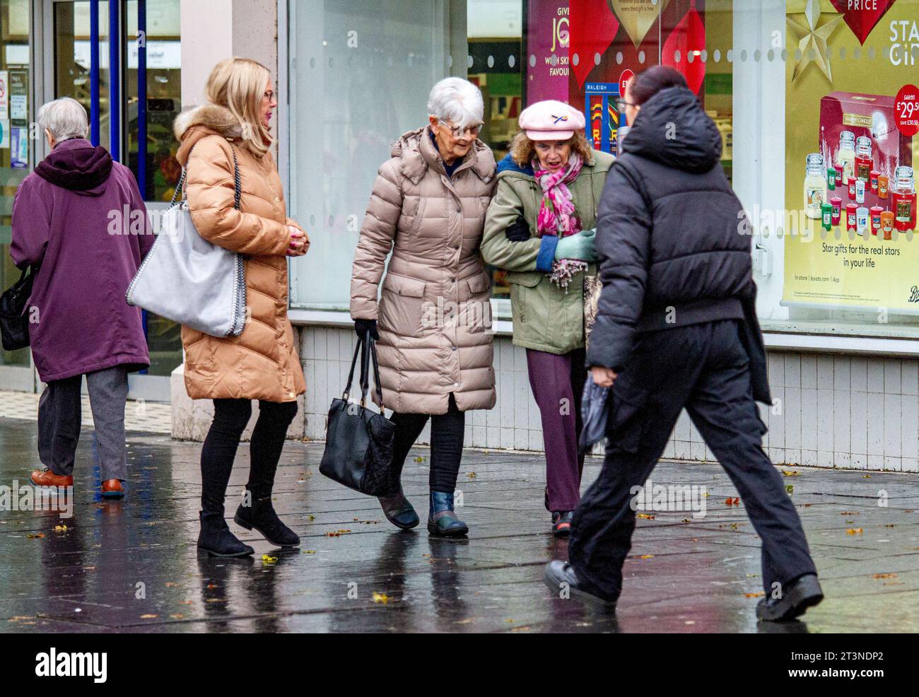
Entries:
{"label": "grey-haired person in purple coat and orange-brown shoes, facing away", "polygon": [[39,109],[51,147],[13,203],[10,255],[38,265],[28,302],[39,401],[39,486],[73,486],[86,376],[96,425],[102,496],[122,497],[127,478],[124,408],[128,373],[150,365],[140,310],[125,291],[153,246],[134,177],[86,140],[83,106],[62,97]]}

